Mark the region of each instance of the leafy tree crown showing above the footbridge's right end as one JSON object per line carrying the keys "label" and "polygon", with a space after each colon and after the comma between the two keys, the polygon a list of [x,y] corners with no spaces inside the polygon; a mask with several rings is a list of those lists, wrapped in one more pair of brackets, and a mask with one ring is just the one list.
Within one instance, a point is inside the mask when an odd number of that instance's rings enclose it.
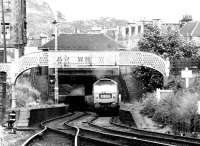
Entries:
{"label": "leafy tree crown showing above the footbridge's right end", "polygon": [[138,42],[140,51],[152,52],[161,57],[191,58],[197,55],[197,47],[191,41],[186,41],[177,30],[162,31],[157,26],[148,25],[144,35]]}

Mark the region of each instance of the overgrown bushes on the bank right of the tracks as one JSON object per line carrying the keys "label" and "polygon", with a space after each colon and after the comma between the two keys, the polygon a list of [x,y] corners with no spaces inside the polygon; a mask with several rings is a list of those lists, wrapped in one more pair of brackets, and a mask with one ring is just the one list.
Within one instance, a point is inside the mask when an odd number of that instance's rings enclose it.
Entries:
{"label": "overgrown bushes on the bank right of the tracks", "polygon": [[155,93],[148,94],[142,101],[144,108],[141,113],[159,124],[171,125],[173,130],[193,131],[200,125],[200,116],[197,115],[199,89],[199,81],[194,80],[190,88],[179,89],[174,96],[165,97],[159,103],[155,101]]}

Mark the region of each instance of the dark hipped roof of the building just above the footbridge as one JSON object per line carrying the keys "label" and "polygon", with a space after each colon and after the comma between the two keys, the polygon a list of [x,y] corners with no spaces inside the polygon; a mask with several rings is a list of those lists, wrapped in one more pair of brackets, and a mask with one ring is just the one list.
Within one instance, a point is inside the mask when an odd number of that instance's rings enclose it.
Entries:
{"label": "dark hipped roof of the building just above the footbridge", "polygon": [[[55,40],[51,40],[40,49],[54,50]],[[60,34],[58,50],[118,50],[125,48],[104,34]]]}

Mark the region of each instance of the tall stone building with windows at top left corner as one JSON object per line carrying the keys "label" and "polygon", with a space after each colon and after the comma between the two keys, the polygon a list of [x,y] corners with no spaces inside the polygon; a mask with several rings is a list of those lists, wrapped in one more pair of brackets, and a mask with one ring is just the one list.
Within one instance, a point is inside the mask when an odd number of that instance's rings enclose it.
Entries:
{"label": "tall stone building with windows at top left corner", "polygon": [[[4,23],[3,13],[4,12]],[[8,62],[15,57],[24,55],[26,39],[26,0],[3,0],[1,7],[0,27],[0,62],[3,61],[4,45],[6,46]],[[3,38],[3,24],[5,25],[5,39]],[[14,58],[13,58],[14,57]]]}

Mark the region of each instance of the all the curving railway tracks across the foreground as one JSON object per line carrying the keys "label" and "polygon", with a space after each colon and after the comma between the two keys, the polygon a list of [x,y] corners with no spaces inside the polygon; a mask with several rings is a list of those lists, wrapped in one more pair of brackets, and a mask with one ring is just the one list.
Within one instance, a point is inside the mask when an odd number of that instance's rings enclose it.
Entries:
{"label": "all the curving railway tracks across the foreground", "polygon": [[140,130],[123,125],[111,118],[107,126],[95,124],[98,117],[75,112],[41,123],[43,129],[22,146],[30,145],[95,145],[95,146],[197,146],[200,139]]}

